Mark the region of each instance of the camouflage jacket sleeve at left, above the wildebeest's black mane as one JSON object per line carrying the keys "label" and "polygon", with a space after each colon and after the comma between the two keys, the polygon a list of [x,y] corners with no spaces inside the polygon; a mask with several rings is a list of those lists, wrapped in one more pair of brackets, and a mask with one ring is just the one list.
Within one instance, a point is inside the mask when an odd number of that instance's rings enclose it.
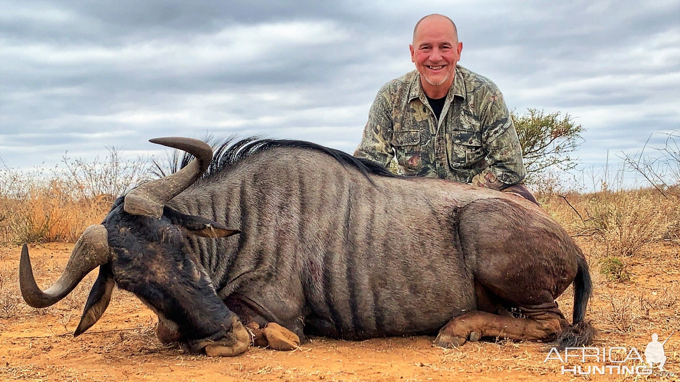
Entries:
{"label": "camouflage jacket sleeve at left, above the wildebeest's black mane", "polygon": [[392,105],[386,97],[386,88],[382,88],[369,111],[369,121],[354,156],[366,158],[387,166],[394,156],[392,150]]}

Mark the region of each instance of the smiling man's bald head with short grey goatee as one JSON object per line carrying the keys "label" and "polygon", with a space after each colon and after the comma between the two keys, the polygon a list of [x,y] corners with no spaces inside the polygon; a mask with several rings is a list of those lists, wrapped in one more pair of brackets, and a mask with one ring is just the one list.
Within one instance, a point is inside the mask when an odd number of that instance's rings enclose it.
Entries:
{"label": "smiling man's bald head with short grey goatee", "polygon": [[430,14],[415,24],[413,44],[409,46],[411,61],[420,72],[423,88],[430,97],[430,92],[445,94],[451,87],[462,48],[456,24],[450,18]]}

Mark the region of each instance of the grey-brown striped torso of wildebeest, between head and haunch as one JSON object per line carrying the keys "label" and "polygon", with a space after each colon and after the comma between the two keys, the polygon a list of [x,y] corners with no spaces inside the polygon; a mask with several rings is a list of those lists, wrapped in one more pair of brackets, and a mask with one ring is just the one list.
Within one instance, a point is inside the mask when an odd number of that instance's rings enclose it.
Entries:
{"label": "grey-brown striped torso of wildebeest, between head and haunch", "polygon": [[237,292],[289,327],[303,317],[307,332],[341,338],[433,334],[475,309],[458,214],[500,193],[369,179],[294,148],[248,161],[168,203],[241,229],[219,241],[192,237],[220,298]]}

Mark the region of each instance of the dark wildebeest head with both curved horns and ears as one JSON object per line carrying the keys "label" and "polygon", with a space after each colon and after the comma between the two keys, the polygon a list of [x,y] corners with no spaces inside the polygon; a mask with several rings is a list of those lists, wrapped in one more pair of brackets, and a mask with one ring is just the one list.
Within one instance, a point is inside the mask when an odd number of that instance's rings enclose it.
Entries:
{"label": "dark wildebeest head with both curved horns and ears", "polygon": [[84,313],[74,335],[95,324],[105,311],[114,283],[133,292],[158,314],[165,340],[183,339],[193,351],[235,355],[250,343],[238,317],[226,308],[189,250],[187,235],[228,237],[239,230],[185,215],[165,206],[199,179],[211,162],[207,143],[188,138],[152,139],[196,158],[184,169],[150,181],[118,198],[102,224],[88,227],[73,248],[61,277],[48,290],[35,283],[27,246],[20,260],[20,287],[32,307],[58,302],[94,268]]}

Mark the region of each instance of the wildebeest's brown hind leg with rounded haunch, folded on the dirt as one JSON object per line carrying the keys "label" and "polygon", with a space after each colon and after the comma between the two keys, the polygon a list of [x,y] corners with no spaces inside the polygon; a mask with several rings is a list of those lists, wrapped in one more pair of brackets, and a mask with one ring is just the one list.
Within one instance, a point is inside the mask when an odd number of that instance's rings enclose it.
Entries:
{"label": "wildebeest's brown hind leg with rounded haunch, folded on the dirt", "polygon": [[[484,336],[548,341],[568,326],[555,298],[575,278],[578,251],[547,215],[531,212],[504,199],[476,201],[461,211],[458,232],[466,267],[492,301],[517,308],[522,317],[501,317],[488,308],[464,313],[440,330],[437,345]],[[478,309],[485,309],[481,302]]]}

